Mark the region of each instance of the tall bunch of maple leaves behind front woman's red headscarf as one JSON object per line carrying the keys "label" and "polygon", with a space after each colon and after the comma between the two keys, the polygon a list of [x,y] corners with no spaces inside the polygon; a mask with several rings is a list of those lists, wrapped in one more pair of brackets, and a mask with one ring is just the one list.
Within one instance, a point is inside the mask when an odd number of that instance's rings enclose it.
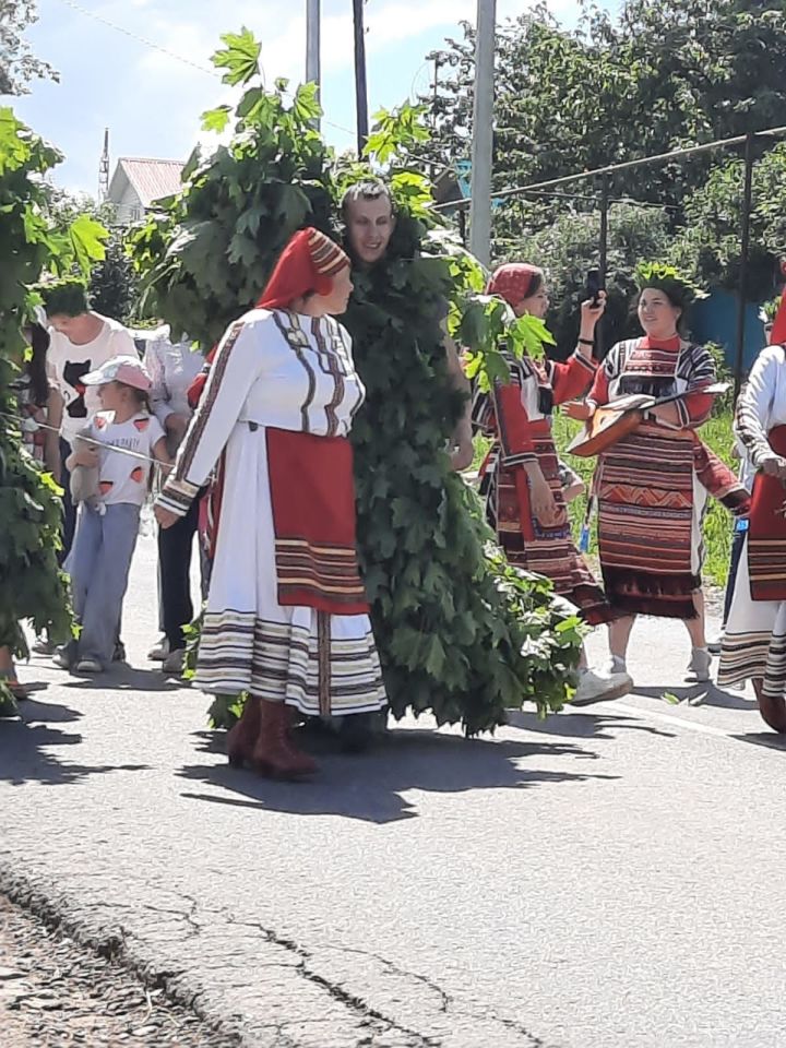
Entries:
{"label": "tall bunch of maple leaves behind front woman's red headscarf", "polygon": [[[163,317],[210,348],[249,309],[293,233],[311,224],[330,231],[329,154],[313,129],[315,88],[286,98],[286,81],[265,92],[260,45],[248,29],[222,37],[214,62],[224,82],[247,90],[235,110],[235,136],[203,158],[194,150],[183,190],[130,234],[142,284],[143,315]],[[250,86],[248,86],[250,85]],[[233,111],[203,115],[223,131]]]}

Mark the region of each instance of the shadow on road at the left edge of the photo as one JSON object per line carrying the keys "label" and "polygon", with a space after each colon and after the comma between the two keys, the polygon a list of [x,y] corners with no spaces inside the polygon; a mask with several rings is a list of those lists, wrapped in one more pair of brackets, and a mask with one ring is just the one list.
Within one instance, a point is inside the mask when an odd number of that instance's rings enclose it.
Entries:
{"label": "shadow on road at the left edge of the photo", "polygon": [[24,783],[66,786],[105,772],[141,772],[147,769],[146,764],[91,765],[61,761],[58,754],[44,752],[44,749],[79,746],[82,736],[36,722],[68,724],[80,720],[82,714],[69,706],[32,700],[23,702],[20,711],[19,720],[3,722],[0,734],[0,782],[8,782],[12,786]]}

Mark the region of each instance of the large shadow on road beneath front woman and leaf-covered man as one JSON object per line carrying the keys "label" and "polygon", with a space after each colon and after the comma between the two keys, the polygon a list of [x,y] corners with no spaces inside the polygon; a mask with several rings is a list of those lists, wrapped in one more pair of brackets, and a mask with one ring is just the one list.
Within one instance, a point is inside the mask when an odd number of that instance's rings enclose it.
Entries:
{"label": "large shadow on road beneath front woman and leaf-covered man", "polygon": [[[223,753],[222,735],[204,731],[199,736],[203,753]],[[227,796],[182,794],[192,800],[301,815],[343,815],[378,824],[417,817],[416,806],[401,796],[410,789],[457,794],[618,777],[529,769],[522,763],[538,757],[592,760],[595,754],[573,745],[467,740],[401,729],[388,733],[384,742],[362,755],[320,755],[320,772],[310,783],[276,783],[223,762],[186,766],[178,774],[227,791]]]}

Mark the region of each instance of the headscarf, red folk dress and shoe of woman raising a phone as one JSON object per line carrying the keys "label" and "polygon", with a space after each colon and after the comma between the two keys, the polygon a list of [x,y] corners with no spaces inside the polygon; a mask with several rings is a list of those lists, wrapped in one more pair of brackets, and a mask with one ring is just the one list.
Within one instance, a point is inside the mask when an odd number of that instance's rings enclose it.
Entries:
{"label": "headscarf, red folk dress and shoe of woman raising a phone", "polygon": [[[503,298],[516,317],[543,320],[548,310],[543,271],[533,265],[500,266],[487,290]],[[583,303],[579,345],[564,364],[505,353],[509,381],[477,394],[473,410],[475,426],[493,438],[480,467],[480,491],[509,562],[549,579],[593,626],[608,622],[612,612],[571,537],[551,414],[556,405],[584,394],[595,376],[593,334],[604,308],[605,293],[598,306]],[[573,702],[616,699],[630,687],[627,674],[597,674],[582,654]]]}

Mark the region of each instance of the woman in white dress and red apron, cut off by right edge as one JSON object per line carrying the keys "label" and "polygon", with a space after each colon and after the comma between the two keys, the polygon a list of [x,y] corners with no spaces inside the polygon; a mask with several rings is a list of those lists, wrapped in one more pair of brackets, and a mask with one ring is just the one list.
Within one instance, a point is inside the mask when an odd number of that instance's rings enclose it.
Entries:
{"label": "woman in white dress and red apron, cut off by right edge", "polygon": [[[784,313],[781,325],[783,338]],[[786,346],[759,355],[740,393],[735,429],[757,474],[718,684],[751,680],[762,717],[786,733]]]}

